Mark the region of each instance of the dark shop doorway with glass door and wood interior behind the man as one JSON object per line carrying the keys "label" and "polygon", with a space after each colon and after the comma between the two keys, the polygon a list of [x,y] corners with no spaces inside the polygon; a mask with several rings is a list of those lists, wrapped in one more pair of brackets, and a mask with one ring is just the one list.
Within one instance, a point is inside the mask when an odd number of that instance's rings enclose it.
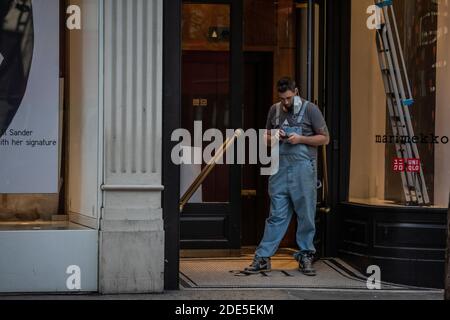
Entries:
{"label": "dark shop doorway with glass door and wood interior behind the man", "polygon": [[[284,75],[295,77],[302,96],[320,105],[321,8],[320,1],[310,6],[294,1],[183,2],[181,127],[194,140],[209,129],[224,137],[227,129],[264,129],[276,102],[276,80]],[[262,17],[268,27],[261,25]],[[291,26],[280,26],[280,21]],[[189,142],[182,153],[191,162],[210,144]],[[267,177],[259,174],[258,165],[205,162],[180,168],[180,248],[233,255],[256,246],[269,211]],[[282,247],[296,247],[294,220]]]}

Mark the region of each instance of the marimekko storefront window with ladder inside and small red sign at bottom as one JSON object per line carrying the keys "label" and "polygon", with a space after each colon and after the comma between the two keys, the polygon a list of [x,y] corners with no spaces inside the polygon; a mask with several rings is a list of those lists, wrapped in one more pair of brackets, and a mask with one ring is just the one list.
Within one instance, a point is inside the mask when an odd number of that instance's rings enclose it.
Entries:
{"label": "marimekko storefront window with ladder inside and small red sign at bottom", "polygon": [[[373,4],[352,1],[349,200],[447,207],[449,1],[394,0],[394,10]],[[392,39],[388,31],[383,38],[388,25]]]}

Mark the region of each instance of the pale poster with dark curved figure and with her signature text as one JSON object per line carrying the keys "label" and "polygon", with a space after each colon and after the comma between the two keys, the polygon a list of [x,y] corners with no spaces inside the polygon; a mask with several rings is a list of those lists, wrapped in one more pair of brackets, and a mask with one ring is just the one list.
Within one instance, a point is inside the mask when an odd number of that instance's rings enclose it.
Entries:
{"label": "pale poster with dark curved figure and with her signature text", "polygon": [[0,2],[0,193],[58,192],[55,2]]}

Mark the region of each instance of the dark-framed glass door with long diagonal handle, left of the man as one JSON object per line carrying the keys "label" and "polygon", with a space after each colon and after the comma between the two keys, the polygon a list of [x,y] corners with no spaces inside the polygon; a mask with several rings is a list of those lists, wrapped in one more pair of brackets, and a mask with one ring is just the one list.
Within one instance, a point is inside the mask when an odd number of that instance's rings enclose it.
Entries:
{"label": "dark-framed glass door with long diagonal handle, left of the man", "polygon": [[242,57],[234,28],[242,20],[232,19],[240,8],[239,1],[186,1],[182,7],[181,125],[192,139],[182,146],[191,161],[180,170],[181,249],[240,246],[239,166],[225,163],[226,151],[223,164],[208,165],[203,157],[214,142],[210,129],[220,131],[223,140],[216,142],[222,145],[227,129],[240,127]]}

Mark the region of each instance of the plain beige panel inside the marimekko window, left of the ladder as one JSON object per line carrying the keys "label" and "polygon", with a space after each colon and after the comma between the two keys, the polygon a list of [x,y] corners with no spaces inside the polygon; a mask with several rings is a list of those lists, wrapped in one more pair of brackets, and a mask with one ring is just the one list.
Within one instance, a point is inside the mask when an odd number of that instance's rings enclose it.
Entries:
{"label": "plain beige panel inside the marimekko window, left of the ladder", "polygon": [[[384,199],[386,98],[378,62],[375,30],[366,22],[371,0],[352,1],[350,200]],[[346,143],[346,142],[342,142]]]}

